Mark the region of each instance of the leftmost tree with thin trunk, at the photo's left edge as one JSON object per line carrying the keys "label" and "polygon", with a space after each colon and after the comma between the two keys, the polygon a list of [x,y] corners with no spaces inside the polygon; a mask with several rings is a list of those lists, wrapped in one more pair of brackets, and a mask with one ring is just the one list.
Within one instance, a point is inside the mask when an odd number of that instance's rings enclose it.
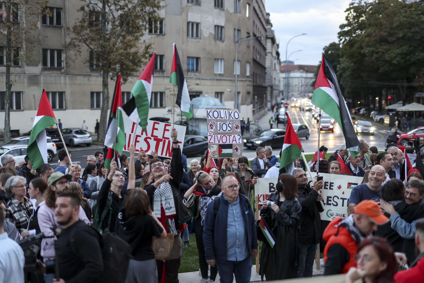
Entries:
{"label": "leftmost tree with thin trunk, at the photo's left edge", "polygon": [[[11,67],[31,61],[31,48],[35,47],[34,32],[39,29],[39,19],[45,11],[47,1],[42,0],[4,0],[0,2],[0,42],[6,42],[0,48],[0,54],[6,54],[6,95],[4,104],[4,140],[10,139],[11,109]],[[26,52],[26,50],[28,52]]]}

